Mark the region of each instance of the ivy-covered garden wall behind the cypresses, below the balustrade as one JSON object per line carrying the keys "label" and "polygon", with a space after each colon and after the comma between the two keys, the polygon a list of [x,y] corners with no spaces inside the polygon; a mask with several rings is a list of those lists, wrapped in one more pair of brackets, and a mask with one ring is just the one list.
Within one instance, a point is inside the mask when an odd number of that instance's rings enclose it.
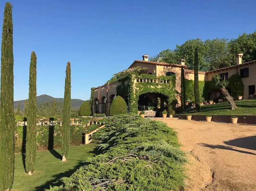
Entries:
{"label": "ivy-covered garden wall behind the cypresses, below the balustrade", "polygon": [[[81,125],[70,126],[70,145],[76,146],[82,144],[82,137],[85,133],[97,129],[101,124],[94,124],[83,127]],[[15,126],[14,145],[15,152],[18,153],[24,149],[26,139],[26,126]],[[61,146],[62,127],[57,125],[42,125],[37,128],[37,150],[57,149]]]}

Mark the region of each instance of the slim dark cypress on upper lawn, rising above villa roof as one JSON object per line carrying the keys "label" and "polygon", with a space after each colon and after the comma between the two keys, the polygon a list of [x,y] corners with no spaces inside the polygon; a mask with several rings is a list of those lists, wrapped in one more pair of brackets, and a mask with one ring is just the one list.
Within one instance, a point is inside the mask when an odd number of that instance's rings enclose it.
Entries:
{"label": "slim dark cypress on upper lawn, rising above villa roof", "polygon": [[197,112],[200,111],[200,95],[199,95],[199,81],[198,81],[198,50],[195,49],[195,69],[194,69],[194,93],[195,104]]}

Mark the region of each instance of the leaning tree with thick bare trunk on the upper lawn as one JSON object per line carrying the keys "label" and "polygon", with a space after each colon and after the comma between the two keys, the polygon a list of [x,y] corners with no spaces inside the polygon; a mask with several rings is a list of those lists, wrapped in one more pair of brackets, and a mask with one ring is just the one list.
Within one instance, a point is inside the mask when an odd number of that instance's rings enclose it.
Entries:
{"label": "leaning tree with thick bare trunk on the upper lawn", "polygon": [[219,89],[221,90],[221,92],[223,93],[224,97],[227,99],[229,105],[230,105],[230,108],[231,109],[236,109],[237,106],[236,104],[234,103],[234,100],[233,98],[229,95],[228,93],[228,90],[226,90],[225,87],[227,87],[228,85],[228,81],[227,80],[223,80],[221,81],[221,76],[219,74],[215,74],[212,76],[212,81],[214,83],[214,85]]}

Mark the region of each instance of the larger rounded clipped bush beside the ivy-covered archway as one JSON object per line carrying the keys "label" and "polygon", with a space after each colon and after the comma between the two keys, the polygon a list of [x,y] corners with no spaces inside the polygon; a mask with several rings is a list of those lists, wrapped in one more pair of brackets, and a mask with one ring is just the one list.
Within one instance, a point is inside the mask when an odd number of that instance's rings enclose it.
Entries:
{"label": "larger rounded clipped bush beside the ivy-covered archway", "polygon": [[125,100],[119,95],[113,100],[110,109],[110,116],[115,116],[119,114],[127,114],[127,105]]}

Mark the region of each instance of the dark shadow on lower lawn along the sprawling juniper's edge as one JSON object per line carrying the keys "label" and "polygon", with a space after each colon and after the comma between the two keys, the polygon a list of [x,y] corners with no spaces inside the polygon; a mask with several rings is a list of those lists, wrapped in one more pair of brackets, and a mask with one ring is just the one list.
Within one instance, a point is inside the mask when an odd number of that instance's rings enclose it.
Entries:
{"label": "dark shadow on lower lawn along the sprawling juniper's edge", "polygon": [[54,187],[54,186],[61,186],[63,183],[62,181],[59,181],[60,178],[62,177],[70,177],[77,169],[79,169],[81,166],[86,166],[88,165],[89,163],[87,162],[84,162],[84,161],[78,161],[76,166],[73,168],[73,169],[70,169],[66,172],[63,172],[63,173],[59,173],[59,174],[56,174],[56,175],[53,175],[53,179],[52,180],[49,180],[47,181],[45,184],[39,186],[39,187],[36,187],[35,190],[36,191],[42,191],[42,190],[45,190],[45,189],[49,189],[50,186]]}

